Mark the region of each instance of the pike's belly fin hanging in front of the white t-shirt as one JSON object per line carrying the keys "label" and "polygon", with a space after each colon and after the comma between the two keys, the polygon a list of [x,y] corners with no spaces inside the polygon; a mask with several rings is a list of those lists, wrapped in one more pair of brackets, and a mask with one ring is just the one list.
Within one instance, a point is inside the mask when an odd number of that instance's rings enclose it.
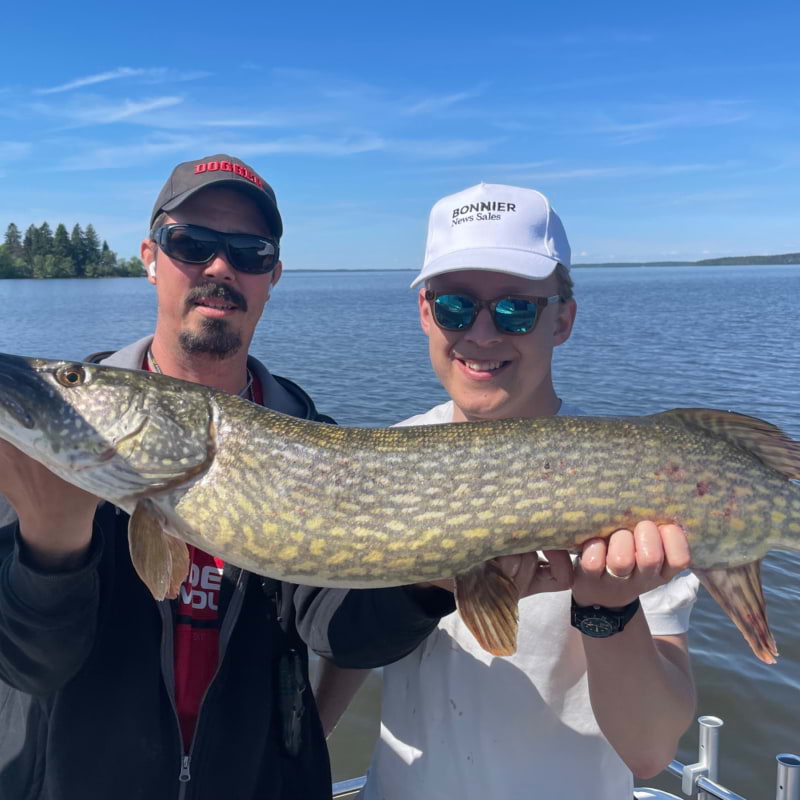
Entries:
{"label": "pike's belly fin hanging in front of the white t-shirt", "polygon": [[457,575],[456,607],[478,644],[493,656],[517,650],[519,592],[494,562]]}

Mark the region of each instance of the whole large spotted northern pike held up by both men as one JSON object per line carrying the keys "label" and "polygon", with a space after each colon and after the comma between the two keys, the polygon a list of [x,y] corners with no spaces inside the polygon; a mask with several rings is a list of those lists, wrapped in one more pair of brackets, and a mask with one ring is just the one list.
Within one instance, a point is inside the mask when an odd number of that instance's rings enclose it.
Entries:
{"label": "whole large spotted northern pike held up by both men", "polygon": [[800,549],[800,443],[727,411],[354,428],[164,375],[0,355],[0,438],[131,515],[156,599],[177,595],[187,542],[312,586],[455,576],[465,623],[498,655],[514,652],[518,597],[490,559],[650,519],[686,531],[691,568],[774,663],[760,563]]}

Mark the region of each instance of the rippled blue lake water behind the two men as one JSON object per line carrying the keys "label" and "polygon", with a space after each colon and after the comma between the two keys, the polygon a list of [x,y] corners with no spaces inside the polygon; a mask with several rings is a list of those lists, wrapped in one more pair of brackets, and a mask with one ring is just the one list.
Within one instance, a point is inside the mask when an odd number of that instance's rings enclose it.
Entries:
{"label": "rippled blue lake water behind the two men", "polygon": [[[800,439],[800,268],[596,268],[574,277],[578,320],[555,363],[567,402],[598,414],[729,408]],[[286,272],[252,352],[342,424],[389,425],[424,411],[445,394],[428,364],[412,278]],[[21,355],[78,359],[119,348],[155,321],[143,279],[0,281],[0,302],[0,351]],[[796,553],[764,563],[776,666],[750,654],[705,592],[692,616],[698,714],[725,720],[720,779],[750,800],[774,796],[776,753],[800,752],[798,572]],[[332,737],[337,780],[369,763],[379,691],[375,673]],[[696,747],[693,728],[678,757],[694,762]],[[647,783],[680,793],[669,777]]]}

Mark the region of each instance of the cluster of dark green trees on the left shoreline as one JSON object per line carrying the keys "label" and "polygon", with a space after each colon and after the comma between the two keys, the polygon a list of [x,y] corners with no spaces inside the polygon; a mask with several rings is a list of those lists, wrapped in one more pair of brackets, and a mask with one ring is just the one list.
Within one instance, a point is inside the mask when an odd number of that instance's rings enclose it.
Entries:
{"label": "cluster of dark green trees on the left shoreline", "polygon": [[0,244],[0,278],[140,277],[144,270],[135,256],[124,259],[100,239],[94,227],[75,225],[72,233],[59,224],[53,233],[47,222],[29,226],[23,236],[12,222]]}

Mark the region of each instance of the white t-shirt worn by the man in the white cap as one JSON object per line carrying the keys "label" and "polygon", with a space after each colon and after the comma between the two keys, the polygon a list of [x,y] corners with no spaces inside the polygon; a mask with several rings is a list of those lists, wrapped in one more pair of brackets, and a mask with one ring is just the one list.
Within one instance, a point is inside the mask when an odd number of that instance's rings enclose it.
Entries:
{"label": "white t-shirt worn by the man in the white cap", "polygon": [[[452,418],[448,402],[400,425]],[[654,635],[688,630],[697,586],[686,574],[642,595]],[[363,800],[632,797],[633,776],[592,713],[570,599],[568,591],[523,598],[513,656],[490,655],[450,614],[413,653],[384,667],[381,733]]]}

